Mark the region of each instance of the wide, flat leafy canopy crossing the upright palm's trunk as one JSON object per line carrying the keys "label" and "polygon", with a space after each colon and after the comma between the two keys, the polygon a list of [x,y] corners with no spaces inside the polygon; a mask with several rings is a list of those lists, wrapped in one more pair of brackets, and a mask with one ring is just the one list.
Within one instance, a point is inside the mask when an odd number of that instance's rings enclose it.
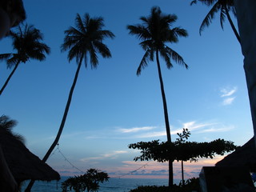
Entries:
{"label": "wide, flat leafy canopy crossing the upright palm's trunk", "polygon": [[158,162],[166,161],[197,161],[197,158],[214,158],[214,154],[224,155],[236,149],[234,142],[216,139],[212,142],[137,142],[129,145],[130,149],[141,150],[141,155],[134,161],[148,161],[153,159]]}

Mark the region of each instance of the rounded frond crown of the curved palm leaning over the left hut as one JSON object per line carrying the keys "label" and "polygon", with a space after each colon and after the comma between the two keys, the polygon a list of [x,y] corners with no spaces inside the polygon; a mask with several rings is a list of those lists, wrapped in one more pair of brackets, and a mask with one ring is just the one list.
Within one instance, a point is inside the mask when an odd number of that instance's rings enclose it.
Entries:
{"label": "rounded frond crown of the curved palm leaning over the left hut", "polygon": [[96,53],[102,55],[103,58],[110,58],[110,50],[102,43],[104,38],[114,38],[114,34],[110,30],[102,30],[105,26],[102,17],[90,18],[89,14],[84,15],[84,19],[77,14],[75,18],[75,26],[70,26],[65,31],[66,37],[62,44],[62,51],[69,50],[68,58],[71,61],[76,58],[77,62],[85,61],[87,67],[87,57],[90,55],[90,64],[92,68],[98,66],[98,56]]}

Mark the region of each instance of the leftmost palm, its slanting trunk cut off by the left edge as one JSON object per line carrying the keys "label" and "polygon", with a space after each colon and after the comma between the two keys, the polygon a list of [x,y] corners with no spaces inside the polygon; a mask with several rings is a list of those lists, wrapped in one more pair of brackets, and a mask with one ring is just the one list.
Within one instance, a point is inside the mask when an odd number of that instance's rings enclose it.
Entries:
{"label": "leftmost palm, its slanting trunk cut off by the left edge", "polygon": [[11,32],[10,37],[13,39],[13,48],[17,52],[15,54],[0,54],[0,60],[6,60],[7,68],[14,67],[2,86],[0,95],[21,62],[26,63],[30,58],[42,62],[46,59],[45,54],[50,54],[50,47],[41,42],[42,33],[32,25],[26,24],[23,29],[18,26],[17,32]]}

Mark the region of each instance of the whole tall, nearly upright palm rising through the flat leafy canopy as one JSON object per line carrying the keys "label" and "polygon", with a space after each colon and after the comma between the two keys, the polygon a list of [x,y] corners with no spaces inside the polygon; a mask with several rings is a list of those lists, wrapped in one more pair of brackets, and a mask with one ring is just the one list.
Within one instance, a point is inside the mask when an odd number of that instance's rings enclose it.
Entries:
{"label": "whole tall, nearly upright palm rising through the flat leafy canopy", "polygon": [[[149,61],[154,62],[155,55],[158,66],[158,78],[162,93],[167,141],[171,142],[166,94],[162,81],[159,54],[165,60],[168,69],[173,67],[171,60],[187,68],[188,66],[183,61],[183,58],[169,46],[166,46],[166,43],[176,43],[178,42],[178,37],[187,37],[188,34],[186,30],[180,27],[174,27],[171,29],[170,26],[176,22],[177,16],[175,14],[162,14],[162,11],[158,6],[152,7],[150,15],[148,17],[141,17],[140,20],[142,21],[142,24],[127,26],[127,29],[130,30],[129,34],[134,34],[139,40],[142,40],[139,45],[142,46],[142,49],[146,51],[138,66],[137,75],[141,74],[142,69],[147,66]],[[169,186],[172,186],[173,182],[173,163],[169,161]]]}

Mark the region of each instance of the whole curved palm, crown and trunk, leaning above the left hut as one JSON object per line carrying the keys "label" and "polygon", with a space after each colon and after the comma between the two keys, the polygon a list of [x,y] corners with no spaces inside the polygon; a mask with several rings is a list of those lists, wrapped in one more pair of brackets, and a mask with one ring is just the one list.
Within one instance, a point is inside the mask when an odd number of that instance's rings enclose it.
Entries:
{"label": "whole curved palm, crown and trunk, leaning above the left hut", "polygon": [[[66,117],[70,109],[74,87],[78,80],[78,74],[82,66],[82,61],[84,61],[85,66],[87,67],[87,58],[89,56],[91,68],[97,68],[97,54],[101,54],[103,58],[111,57],[110,50],[102,41],[105,38],[114,38],[114,34],[110,30],[102,30],[102,27],[104,26],[104,20],[102,17],[90,18],[89,14],[85,14],[84,18],[81,18],[81,16],[77,14],[75,18],[75,27],[70,26],[70,28],[65,31],[66,36],[64,38],[64,43],[61,46],[61,50],[69,50],[69,62],[75,58],[76,62],[78,63],[78,68],[74,75],[73,84],[70,88],[70,94],[66,102],[66,108],[62,117],[61,125],[58,129],[58,134],[50,146],[50,149],[42,159],[43,162],[46,162],[46,160],[49,158],[51,152],[54,150],[54,147],[57,146],[58,140],[61,137],[62,130],[66,122]],[[30,181],[26,191],[30,191],[33,184],[34,181]]]}

